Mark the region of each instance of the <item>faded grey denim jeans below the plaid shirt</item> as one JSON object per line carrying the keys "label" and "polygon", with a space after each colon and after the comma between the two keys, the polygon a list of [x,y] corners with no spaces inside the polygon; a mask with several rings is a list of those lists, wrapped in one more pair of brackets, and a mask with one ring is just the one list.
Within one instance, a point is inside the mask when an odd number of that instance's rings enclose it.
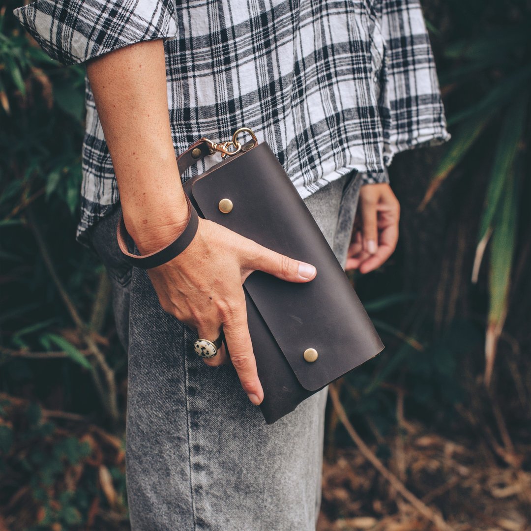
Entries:
{"label": "faded grey denim jeans below the plaid shirt", "polygon": [[[360,175],[305,199],[345,264]],[[129,359],[126,480],[133,531],[313,531],[328,388],[266,425],[232,365],[209,367],[197,332],[162,310],[116,243],[119,209],[91,230]]]}

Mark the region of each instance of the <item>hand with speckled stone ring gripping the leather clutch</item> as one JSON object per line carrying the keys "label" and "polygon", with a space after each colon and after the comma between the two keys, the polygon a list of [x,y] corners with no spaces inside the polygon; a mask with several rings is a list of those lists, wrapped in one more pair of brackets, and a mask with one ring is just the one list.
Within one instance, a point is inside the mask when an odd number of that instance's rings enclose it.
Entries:
{"label": "hand with speckled stone ring gripping the leather clutch", "polygon": [[[139,250],[142,252],[140,246]],[[316,275],[313,265],[266,249],[202,218],[194,239],[181,254],[148,270],[166,312],[197,329],[200,338],[213,341],[223,328],[230,361],[254,405],[263,400],[263,390],[247,328],[242,285],[257,269],[289,282],[307,282]],[[225,345],[216,357],[203,359],[211,366],[226,360]]]}

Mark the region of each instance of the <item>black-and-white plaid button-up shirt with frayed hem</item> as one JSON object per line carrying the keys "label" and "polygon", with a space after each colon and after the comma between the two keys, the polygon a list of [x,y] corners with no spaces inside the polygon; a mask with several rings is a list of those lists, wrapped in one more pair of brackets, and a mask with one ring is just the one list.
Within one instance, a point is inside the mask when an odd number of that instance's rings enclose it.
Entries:
{"label": "black-and-white plaid button-up shirt with frayed hem", "polygon": [[[13,12],[64,65],[164,39],[176,153],[250,127],[302,198],[354,169],[388,182],[395,153],[449,138],[418,0],[36,0]],[[86,76],[85,102],[82,243],[119,199]]]}

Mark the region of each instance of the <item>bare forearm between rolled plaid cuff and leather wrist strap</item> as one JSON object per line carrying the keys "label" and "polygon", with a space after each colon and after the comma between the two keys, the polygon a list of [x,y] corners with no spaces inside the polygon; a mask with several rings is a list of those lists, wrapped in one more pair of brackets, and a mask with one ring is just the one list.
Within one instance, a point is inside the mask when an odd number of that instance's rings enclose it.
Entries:
{"label": "bare forearm between rolled plaid cuff and leather wrist strap", "polygon": [[87,62],[118,182],[125,225],[141,252],[166,245],[187,207],[170,131],[161,39]]}

